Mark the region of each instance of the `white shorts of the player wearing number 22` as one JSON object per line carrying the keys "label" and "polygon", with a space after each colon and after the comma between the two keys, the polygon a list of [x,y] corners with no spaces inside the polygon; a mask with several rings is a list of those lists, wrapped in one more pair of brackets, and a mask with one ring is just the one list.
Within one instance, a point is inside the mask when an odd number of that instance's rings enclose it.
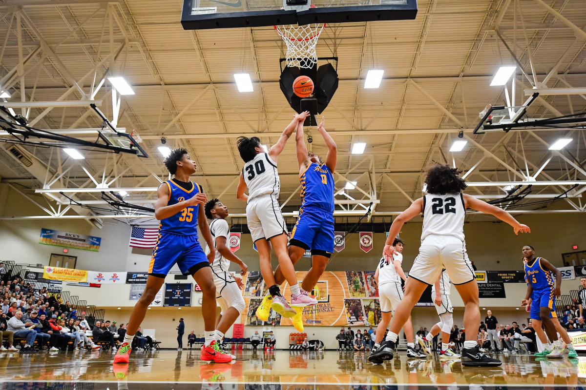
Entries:
{"label": "white shorts of the player wearing number 22", "polygon": [[453,236],[427,236],[421,241],[419,254],[409,271],[409,277],[432,285],[440,277],[442,268],[448,271],[455,285],[476,278],[466,253],[466,243]]}

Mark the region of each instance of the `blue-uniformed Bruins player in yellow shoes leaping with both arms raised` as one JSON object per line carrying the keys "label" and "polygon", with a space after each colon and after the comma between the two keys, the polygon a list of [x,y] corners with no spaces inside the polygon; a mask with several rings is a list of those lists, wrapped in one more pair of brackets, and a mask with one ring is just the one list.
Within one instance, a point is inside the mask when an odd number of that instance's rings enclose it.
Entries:
{"label": "blue-uniformed Bruins player in yellow shoes leaping with both arms raised", "polygon": [[[303,332],[302,307],[315,305],[317,301],[309,297],[319,278],[325,271],[329,258],[333,253],[333,172],[338,160],[338,149],[332,137],[326,132],[325,119],[322,118],[318,132],[328,147],[325,163],[315,153],[308,153],[305,147],[303,122],[297,125],[295,145],[297,163],[299,165],[299,181],[301,182],[301,209],[299,218],[291,233],[289,241],[289,257],[293,264],[311,250],[311,269],[301,284],[301,296],[291,298],[291,306],[297,314],[291,319],[298,332]],[[285,281],[281,266],[275,270],[275,282],[280,285]],[[257,310],[257,317],[265,320],[270,313],[270,296],[265,296]]]}

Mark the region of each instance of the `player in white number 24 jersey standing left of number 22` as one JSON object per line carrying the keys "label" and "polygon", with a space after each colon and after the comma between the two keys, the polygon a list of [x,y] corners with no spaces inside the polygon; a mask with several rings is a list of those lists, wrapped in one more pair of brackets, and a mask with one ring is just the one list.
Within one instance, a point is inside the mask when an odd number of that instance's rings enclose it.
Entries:
{"label": "player in white number 24 jersey standing left of number 22", "polygon": [[[371,354],[376,353],[376,349],[380,347],[383,341],[384,331],[389,326],[391,315],[403,299],[403,286],[401,286],[401,279],[406,280],[405,272],[401,268],[403,263],[403,240],[395,239],[393,242],[394,252],[390,258],[381,258],[379,267],[374,272],[374,280],[379,285],[379,301],[381,320],[377,327],[376,339],[374,340],[374,348]],[[425,357],[424,354],[415,350],[415,343],[413,341],[413,325],[411,325],[411,316],[403,326],[403,332],[407,338],[407,356],[408,357]],[[372,363],[381,364],[382,361],[373,361]]]}

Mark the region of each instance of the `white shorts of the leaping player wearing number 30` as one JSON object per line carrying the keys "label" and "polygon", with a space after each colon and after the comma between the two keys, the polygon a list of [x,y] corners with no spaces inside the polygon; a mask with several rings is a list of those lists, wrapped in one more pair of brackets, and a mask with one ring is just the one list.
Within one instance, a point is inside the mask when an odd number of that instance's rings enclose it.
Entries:
{"label": "white shorts of the leaping player wearing number 30", "polygon": [[258,196],[246,206],[246,220],[253,242],[287,233],[287,225],[277,199],[270,195]]}

